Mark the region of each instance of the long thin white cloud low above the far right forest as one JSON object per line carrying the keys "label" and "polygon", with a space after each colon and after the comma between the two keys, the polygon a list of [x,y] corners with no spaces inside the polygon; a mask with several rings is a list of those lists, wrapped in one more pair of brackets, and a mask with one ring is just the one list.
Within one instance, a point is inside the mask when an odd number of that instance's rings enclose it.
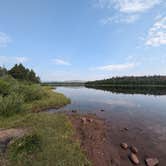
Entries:
{"label": "long thin white cloud low above the far right forest", "polygon": [[101,71],[123,71],[134,68],[134,63],[126,63],[126,64],[115,64],[115,65],[106,65],[106,66],[99,66],[94,68],[94,70],[101,70]]}

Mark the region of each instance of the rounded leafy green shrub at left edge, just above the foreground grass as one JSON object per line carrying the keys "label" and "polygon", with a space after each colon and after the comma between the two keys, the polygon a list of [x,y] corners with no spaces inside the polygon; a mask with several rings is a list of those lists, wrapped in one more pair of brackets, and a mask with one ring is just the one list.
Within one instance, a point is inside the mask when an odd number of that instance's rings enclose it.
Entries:
{"label": "rounded leafy green shrub at left edge, just above the foreground grass", "polygon": [[23,97],[17,93],[0,96],[0,115],[11,116],[23,109]]}

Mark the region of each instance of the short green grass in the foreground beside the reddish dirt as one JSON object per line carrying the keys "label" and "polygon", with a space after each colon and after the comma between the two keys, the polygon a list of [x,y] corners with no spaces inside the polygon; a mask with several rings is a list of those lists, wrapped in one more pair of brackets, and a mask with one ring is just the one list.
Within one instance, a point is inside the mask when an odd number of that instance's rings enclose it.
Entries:
{"label": "short green grass in the foreground beside the reddish dirt", "polygon": [[[72,137],[74,130],[66,115],[28,113],[0,121],[0,127],[29,129],[27,136],[8,147],[4,164],[13,166],[89,166],[78,142]],[[1,161],[2,161],[1,160]]]}

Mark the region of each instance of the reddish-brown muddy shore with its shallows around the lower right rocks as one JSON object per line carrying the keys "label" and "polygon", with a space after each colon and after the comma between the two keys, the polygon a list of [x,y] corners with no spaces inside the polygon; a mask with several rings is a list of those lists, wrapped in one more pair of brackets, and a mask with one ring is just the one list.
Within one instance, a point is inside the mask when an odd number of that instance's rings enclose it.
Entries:
{"label": "reddish-brown muddy shore with its shallows around the lower right rocks", "polygon": [[[145,160],[157,158],[160,166],[165,166],[165,153],[161,153],[155,142],[150,141],[141,129],[133,129],[128,123],[111,123],[92,114],[68,114],[76,131],[82,149],[94,166],[133,166],[131,146],[137,148],[136,156],[140,166],[146,166]],[[125,150],[120,145],[126,143]]]}

